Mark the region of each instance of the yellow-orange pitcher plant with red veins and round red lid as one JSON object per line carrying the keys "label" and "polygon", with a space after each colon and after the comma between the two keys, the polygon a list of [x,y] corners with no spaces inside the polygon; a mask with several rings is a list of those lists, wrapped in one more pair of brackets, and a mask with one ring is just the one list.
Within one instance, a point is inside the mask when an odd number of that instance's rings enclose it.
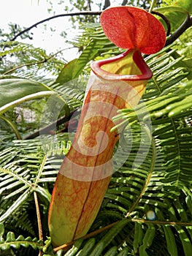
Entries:
{"label": "yellow-orange pitcher plant with red veins and round red lid", "polygon": [[112,118],[134,108],[152,77],[142,53],[164,47],[164,26],[137,7],[111,7],[101,14],[104,34],[126,51],[91,64],[91,76],[77,132],[55,181],[48,225],[54,246],[88,233],[113,172],[112,156],[120,131]]}

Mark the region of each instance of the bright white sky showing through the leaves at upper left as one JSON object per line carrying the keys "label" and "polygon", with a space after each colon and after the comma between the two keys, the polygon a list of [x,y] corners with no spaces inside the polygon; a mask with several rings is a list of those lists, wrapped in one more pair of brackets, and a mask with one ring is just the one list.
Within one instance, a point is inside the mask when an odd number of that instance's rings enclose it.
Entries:
{"label": "bright white sky showing through the leaves at upper left", "polygon": [[[4,29],[5,32],[8,30],[8,23],[16,23],[21,27],[28,27],[39,20],[54,15],[53,12],[48,12],[50,4],[46,0],[7,0],[3,1],[2,5],[0,28]],[[54,7],[55,14],[64,13],[64,7],[56,4],[54,4]],[[58,49],[72,47],[72,45],[66,44],[64,37],[60,37],[61,31],[69,31],[72,27],[68,20],[69,18],[56,18],[43,23],[37,28],[31,29],[34,39],[26,39],[24,42],[30,43],[35,47],[44,48],[47,53],[55,53]],[[47,27],[46,30],[45,26]],[[54,29],[54,31],[51,31],[50,28]],[[67,39],[72,39],[73,37],[74,34],[68,32]],[[20,41],[19,37],[18,40]],[[77,50],[66,50],[64,54],[66,54],[64,58],[69,61],[76,57]]]}

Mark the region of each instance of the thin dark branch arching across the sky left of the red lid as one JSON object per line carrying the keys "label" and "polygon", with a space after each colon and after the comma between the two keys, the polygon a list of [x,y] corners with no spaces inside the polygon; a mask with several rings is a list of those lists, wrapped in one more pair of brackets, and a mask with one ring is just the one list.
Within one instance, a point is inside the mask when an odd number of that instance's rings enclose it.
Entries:
{"label": "thin dark branch arching across the sky left of the red lid", "polygon": [[64,13],[64,14],[59,14],[52,16],[50,18],[46,18],[45,20],[40,20],[37,23],[34,23],[34,25],[29,26],[27,29],[24,29],[23,31],[20,31],[20,33],[16,34],[15,37],[13,37],[10,41],[15,41],[16,38],[20,37],[22,34],[26,33],[27,31],[36,28],[39,24],[45,23],[46,21],[53,20],[55,18],[60,18],[60,17],[67,17],[67,16],[77,16],[77,15],[101,15],[101,11],[98,12],[70,12],[70,13]]}

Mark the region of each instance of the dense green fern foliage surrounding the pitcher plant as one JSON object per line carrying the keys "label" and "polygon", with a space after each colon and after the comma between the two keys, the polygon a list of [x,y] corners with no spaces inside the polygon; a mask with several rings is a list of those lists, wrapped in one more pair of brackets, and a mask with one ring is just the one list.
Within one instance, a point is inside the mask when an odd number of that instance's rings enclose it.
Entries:
{"label": "dense green fern foliage surrounding the pitcher plant", "polygon": [[[172,34],[186,10],[192,12],[190,0],[180,5],[166,0],[158,9]],[[119,159],[126,161],[112,176],[90,236],[58,250],[49,238],[47,211],[74,137],[76,123],[69,132],[66,124],[82,105],[90,62],[121,49],[99,23],[82,24],[82,35],[72,42],[82,53],[69,63],[32,45],[1,41],[1,255],[191,256],[191,34],[192,27],[160,53],[145,56],[153,78],[142,101],[115,117],[123,117],[123,137],[131,141]]]}

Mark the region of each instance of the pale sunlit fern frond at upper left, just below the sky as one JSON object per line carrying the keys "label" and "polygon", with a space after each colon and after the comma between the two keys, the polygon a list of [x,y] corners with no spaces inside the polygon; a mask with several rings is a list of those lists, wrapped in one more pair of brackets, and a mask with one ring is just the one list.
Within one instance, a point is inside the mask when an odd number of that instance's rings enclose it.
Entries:
{"label": "pale sunlit fern frond at upper left, just below the sky", "polygon": [[[46,72],[47,75],[53,76],[64,66],[64,60],[55,58],[56,53],[47,55],[45,50],[35,48],[33,45],[22,42],[3,42],[1,47],[6,50],[1,51],[0,56],[10,56],[7,65],[1,65],[0,73],[3,75],[12,74],[20,78],[34,78],[36,75],[45,76]],[[4,62],[4,59],[2,61]],[[3,67],[6,67],[6,70]]]}

